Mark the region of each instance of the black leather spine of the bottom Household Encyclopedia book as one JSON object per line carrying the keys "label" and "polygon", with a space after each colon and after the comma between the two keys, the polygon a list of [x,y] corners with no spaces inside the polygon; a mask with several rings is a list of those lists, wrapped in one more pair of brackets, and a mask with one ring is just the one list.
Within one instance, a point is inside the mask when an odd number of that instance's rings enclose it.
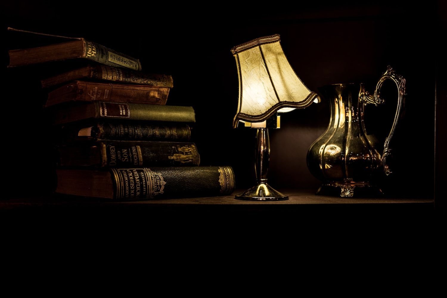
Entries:
{"label": "black leather spine of the bottom Household Encyclopedia book", "polygon": [[229,195],[231,167],[119,168],[110,171],[117,200]]}

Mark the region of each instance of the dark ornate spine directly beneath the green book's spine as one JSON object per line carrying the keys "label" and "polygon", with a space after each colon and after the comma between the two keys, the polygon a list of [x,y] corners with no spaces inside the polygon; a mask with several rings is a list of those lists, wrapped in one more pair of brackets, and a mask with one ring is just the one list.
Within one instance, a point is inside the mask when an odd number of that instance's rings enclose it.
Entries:
{"label": "dark ornate spine directly beneath the green book's spine", "polygon": [[186,124],[163,126],[101,122],[93,126],[92,137],[108,140],[189,141],[191,128]]}

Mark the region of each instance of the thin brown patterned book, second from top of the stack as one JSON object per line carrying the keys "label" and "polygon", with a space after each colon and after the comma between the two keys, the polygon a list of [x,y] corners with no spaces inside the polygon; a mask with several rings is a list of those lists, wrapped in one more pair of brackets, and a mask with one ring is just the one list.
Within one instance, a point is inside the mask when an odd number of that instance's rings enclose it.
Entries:
{"label": "thin brown patterned book, second from top of the stack", "polygon": [[74,80],[86,79],[173,88],[172,76],[149,74],[105,65],[86,65],[56,76],[48,77],[40,82],[42,88],[48,88]]}

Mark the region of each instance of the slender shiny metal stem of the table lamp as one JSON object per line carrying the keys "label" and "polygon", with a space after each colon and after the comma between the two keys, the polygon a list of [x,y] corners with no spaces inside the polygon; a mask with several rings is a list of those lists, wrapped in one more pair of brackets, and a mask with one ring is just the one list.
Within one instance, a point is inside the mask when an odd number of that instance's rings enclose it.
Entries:
{"label": "slender shiny metal stem of the table lamp", "polygon": [[267,171],[270,162],[270,140],[267,128],[258,128],[256,133],[257,148],[255,151],[255,171],[258,183],[267,182]]}

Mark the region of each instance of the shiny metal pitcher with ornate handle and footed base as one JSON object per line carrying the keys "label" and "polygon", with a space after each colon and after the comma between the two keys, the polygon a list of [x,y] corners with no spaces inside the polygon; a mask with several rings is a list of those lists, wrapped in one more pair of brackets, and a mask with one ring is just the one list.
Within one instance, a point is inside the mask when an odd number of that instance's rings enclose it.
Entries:
{"label": "shiny metal pitcher with ornate handle and footed base", "polygon": [[[397,109],[384,150],[374,135],[367,135],[364,124],[365,105],[380,105],[380,88],[385,80],[392,80],[398,89]],[[309,148],[308,168],[313,176],[323,181],[319,193],[326,187],[339,187],[341,197],[352,197],[357,187],[374,187],[379,171],[391,174],[387,159],[390,142],[405,101],[405,79],[388,66],[380,77],[374,94],[363,84],[333,84],[320,89],[331,107],[330,123],[326,131]]]}

